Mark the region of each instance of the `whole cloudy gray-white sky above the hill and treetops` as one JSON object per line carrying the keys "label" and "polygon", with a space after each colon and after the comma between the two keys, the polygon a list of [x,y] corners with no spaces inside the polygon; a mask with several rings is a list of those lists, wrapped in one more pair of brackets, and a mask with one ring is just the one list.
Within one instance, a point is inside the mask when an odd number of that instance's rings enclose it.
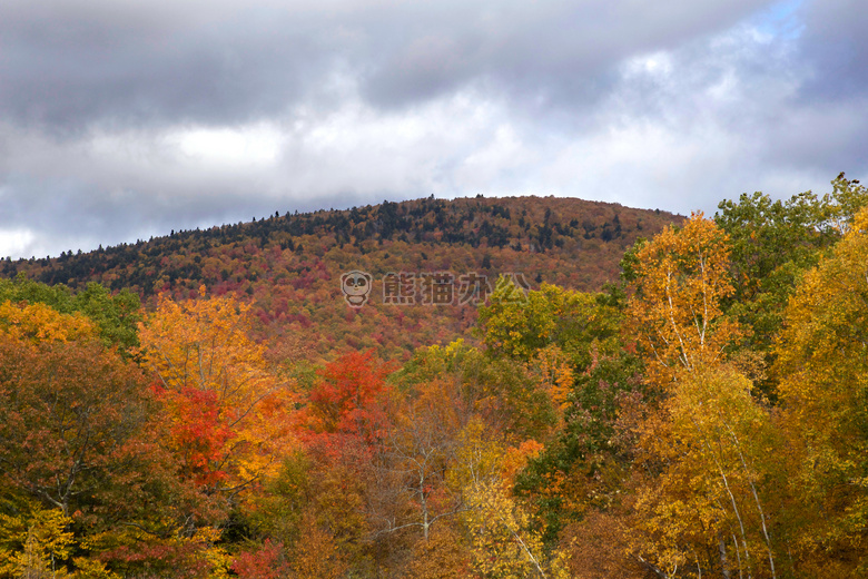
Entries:
{"label": "whole cloudy gray-white sky above the hill and treetops", "polygon": [[713,213],[868,169],[864,0],[2,0],[0,256],[276,210]]}

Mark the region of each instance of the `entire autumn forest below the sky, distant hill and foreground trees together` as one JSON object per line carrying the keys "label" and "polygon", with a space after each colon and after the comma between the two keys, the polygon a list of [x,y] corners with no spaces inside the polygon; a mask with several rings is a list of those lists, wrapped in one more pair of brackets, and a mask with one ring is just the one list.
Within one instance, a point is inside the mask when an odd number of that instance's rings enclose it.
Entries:
{"label": "entire autumn forest below the sky, distant hill and foreground trees together", "polygon": [[868,189],[0,261],[0,578],[229,577],[868,577]]}

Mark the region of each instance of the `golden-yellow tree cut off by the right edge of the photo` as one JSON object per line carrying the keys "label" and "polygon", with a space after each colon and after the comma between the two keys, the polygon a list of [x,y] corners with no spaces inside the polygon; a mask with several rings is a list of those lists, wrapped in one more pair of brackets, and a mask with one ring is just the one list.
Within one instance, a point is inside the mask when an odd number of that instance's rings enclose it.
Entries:
{"label": "golden-yellow tree cut off by the right edge of the photo", "polygon": [[[795,543],[808,572],[868,568],[868,209],[805,275],[777,343],[783,423],[799,448]],[[834,570],[834,571],[832,571]],[[831,576],[831,575],[830,575]]]}

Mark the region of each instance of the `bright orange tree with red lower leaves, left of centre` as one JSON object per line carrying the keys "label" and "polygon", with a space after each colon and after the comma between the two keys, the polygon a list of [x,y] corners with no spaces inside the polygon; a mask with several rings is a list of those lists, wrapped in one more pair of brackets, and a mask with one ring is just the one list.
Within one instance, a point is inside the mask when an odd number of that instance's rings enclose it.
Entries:
{"label": "bright orange tree with red lower leaves, left of centre", "polygon": [[234,495],[270,473],[290,443],[293,393],[249,336],[250,306],[160,296],[140,327],[141,356],[168,410],[164,442],[206,493]]}

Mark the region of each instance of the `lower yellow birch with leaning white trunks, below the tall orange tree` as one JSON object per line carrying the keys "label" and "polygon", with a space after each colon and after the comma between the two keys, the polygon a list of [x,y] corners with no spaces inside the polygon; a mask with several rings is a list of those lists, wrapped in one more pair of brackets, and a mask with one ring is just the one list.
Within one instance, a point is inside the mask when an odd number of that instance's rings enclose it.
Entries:
{"label": "lower yellow birch with leaning white trunks, below the tall orange tree", "polygon": [[751,387],[730,366],[699,370],[638,429],[632,552],[665,576],[777,577],[768,487],[779,444]]}

